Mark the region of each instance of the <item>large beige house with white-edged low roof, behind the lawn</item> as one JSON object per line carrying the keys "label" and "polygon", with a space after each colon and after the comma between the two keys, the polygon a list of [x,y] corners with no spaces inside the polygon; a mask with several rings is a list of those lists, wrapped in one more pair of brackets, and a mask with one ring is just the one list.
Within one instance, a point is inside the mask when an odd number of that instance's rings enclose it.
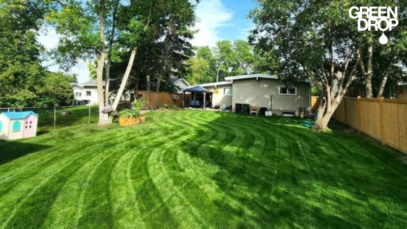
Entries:
{"label": "large beige house with white-edged low roof, behind the lawn", "polygon": [[231,81],[232,105],[246,103],[251,106],[271,107],[276,115],[282,112],[296,112],[299,107],[305,107],[306,115],[311,110],[310,81],[300,83],[299,87],[286,88],[277,76],[252,74],[225,77]]}

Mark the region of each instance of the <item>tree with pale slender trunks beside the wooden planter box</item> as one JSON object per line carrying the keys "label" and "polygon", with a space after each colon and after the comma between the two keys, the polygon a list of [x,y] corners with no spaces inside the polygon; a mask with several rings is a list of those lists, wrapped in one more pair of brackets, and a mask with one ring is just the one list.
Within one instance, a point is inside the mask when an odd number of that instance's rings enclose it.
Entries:
{"label": "tree with pale slender trunks beside the wooden planter box", "polygon": [[[115,53],[130,52],[126,71],[113,101],[116,109],[127,84],[140,45],[151,41],[157,30],[154,24],[164,18],[190,17],[193,5],[187,0],[120,1],[100,0],[85,4],[74,0],[58,1],[62,9],[49,16],[62,35],[60,63],[72,64],[78,58],[95,59],[99,97],[99,125],[109,120],[101,111],[108,104],[110,65]],[[189,23],[188,25],[192,25]],[[103,94],[103,74],[106,88]]]}

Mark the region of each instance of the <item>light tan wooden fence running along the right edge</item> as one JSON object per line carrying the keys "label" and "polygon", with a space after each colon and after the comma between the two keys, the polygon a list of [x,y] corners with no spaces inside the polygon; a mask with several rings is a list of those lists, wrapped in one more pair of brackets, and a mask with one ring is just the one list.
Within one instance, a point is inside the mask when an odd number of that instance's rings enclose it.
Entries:
{"label": "light tan wooden fence running along the right edge", "polygon": [[346,97],[333,117],[407,154],[407,99]]}

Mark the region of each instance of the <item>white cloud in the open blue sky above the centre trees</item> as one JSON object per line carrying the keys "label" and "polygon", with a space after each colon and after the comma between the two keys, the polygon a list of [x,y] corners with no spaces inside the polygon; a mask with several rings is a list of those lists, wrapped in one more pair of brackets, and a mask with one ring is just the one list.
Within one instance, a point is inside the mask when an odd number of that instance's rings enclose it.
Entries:
{"label": "white cloud in the open blue sky above the centre trees", "polygon": [[229,26],[233,12],[226,9],[221,0],[202,0],[195,11],[198,22],[194,29],[199,30],[191,40],[195,46],[214,46],[222,40],[219,33],[222,27]]}

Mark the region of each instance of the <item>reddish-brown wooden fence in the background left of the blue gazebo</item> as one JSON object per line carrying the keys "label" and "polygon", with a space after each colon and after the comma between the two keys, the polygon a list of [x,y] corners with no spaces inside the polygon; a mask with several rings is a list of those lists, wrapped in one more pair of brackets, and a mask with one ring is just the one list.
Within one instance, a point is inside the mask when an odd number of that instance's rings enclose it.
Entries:
{"label": "reddish-brown wooden fence in the background left of the blue gazebo", "polygon": [[[184,107],[189,106],[189,94],[177,93],[167,93],[167,92],[148,92],[148,91],[137,91],[137,94],[142,95],[146,105],[142,109],[156,109],[165,104],[177,105],[177,107],[182,107],[182,99],[184,98]],[[173,96],[177,95],[178,99],[173,99]]]}

